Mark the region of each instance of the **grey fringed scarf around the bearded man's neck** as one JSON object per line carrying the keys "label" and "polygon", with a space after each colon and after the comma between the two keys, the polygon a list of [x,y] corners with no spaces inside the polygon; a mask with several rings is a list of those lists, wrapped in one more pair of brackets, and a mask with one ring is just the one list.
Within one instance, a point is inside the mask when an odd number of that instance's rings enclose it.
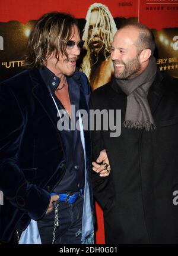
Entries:
{"label": "grey fringed scarf around the bearded man's neck", "polygon": [[151,57],[147,68],[139,76],[131,80],[116,79],[117,85],[127,95],[124,127],[145,129],[147,131],[152,130],[152,127],[155,129],[147,95],[156,72],[155,58]]}

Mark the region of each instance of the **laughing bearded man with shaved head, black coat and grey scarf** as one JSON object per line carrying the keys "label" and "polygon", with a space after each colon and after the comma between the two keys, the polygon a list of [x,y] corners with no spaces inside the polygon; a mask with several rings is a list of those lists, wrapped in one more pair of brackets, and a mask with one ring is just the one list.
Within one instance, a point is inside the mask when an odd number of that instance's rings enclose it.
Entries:
{"label": "laughing bearded man with shaved head, black coat and grey scarf", "polygon": [[101,179],[93,166],[106,243],[178,243],[178,80],[157,70],[154,49],[143,24],[117,30],[115,77],[90,99],[94,110],[121,110],[119,137],[93,132],[93,158],[106,148],[112,169]]}

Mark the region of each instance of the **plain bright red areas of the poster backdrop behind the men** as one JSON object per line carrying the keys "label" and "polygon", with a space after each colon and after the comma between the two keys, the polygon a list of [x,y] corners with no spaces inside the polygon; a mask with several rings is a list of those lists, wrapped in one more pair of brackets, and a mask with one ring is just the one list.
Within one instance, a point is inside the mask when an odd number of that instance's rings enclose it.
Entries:
{"label": "plain bright red areas of the poster backdrop behind the men", "polygon": [[[138,22],[146,24],[151,29],[178,27],[176,0],[0,0],[0,22],[17,20],[25,24],[28,20],[37,20],[40,15],[49,11],[63,11],[74,14],[77,18],[85,18],[88,7],[94,2],[107,5],[113,17],[138,17]],[[104,243],[103,212],[97,204],[96,216],[98,226],[96,243]]]}

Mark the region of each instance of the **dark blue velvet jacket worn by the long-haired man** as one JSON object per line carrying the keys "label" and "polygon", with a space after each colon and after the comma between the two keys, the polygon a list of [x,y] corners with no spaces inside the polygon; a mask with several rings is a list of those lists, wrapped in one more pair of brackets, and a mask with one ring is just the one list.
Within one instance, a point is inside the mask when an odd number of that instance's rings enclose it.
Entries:
{"label": "dark blue velvet jacket worn by the long-haired man", "polygon": [[[80,109],[88,111],[90,86],[85,75],[76,70],[69,83],[80,86]],[[39,220],[44,216],[50,192],[66,171],[66,149],[63,132],[57,129],[59,117],[55,104],[37,68],[1,83],[0,117],[0,190],[4,192],[0,241],[8,242],[15,229],[24,230],[31,218]],[[87,182],[84,205],[90,205],[87,214],[92,216],[89,131],[84,131],[84,138]],[[87,220],[85,211],[83,216]],[[91,227],[83,235],[90,235],[89,230]]]}

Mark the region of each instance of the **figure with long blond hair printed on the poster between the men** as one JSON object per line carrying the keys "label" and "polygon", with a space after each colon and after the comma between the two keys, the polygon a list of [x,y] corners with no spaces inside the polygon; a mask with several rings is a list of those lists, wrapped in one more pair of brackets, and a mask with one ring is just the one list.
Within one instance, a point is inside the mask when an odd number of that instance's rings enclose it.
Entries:
{"label": "figure with long blond hair printed on the poster between the men", "polygon": [[87,54],[81,65],[94,90],[109,82],[114,72],[110,46],[117,31],[115,21],[106,5],[90,5],[82,40]]}

